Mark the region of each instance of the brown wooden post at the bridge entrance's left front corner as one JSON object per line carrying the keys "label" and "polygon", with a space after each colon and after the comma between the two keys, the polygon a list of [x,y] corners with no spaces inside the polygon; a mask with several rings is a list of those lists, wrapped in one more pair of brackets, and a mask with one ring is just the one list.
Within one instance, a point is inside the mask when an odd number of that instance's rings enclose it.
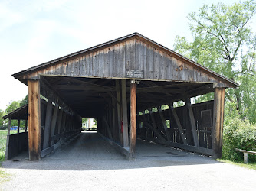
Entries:
{"label": "brown wooden post at the bridge entrance's left front corner", "polygon": [[28,80],[28,151],[29,160],[41,157],[40,83]]}

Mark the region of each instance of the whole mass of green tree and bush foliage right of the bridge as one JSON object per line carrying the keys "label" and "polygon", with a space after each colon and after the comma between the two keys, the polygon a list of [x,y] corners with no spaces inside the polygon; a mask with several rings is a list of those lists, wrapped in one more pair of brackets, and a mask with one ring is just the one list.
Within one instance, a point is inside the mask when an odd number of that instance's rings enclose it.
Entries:
{"label": "whole mass of green tree and bush foliage right of the bridge", "polygon": [[[189,13],[193,40],[176,37],[174,48],[209,69],[239,83],[226,89],[223,158],[243,161],[235,148],[256,151],[256,34],[251,18],[256,2],[247,0],[233,5],[204,5]],[[200,95],[195,102],[212,100],[213,93]],[[248,154],[256,162],[256,156]]]}

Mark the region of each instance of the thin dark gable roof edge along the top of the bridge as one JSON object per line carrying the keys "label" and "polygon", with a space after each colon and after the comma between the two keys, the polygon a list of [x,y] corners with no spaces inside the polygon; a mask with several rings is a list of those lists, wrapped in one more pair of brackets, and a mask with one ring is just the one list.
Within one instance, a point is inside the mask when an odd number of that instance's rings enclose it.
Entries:
{"label": "thin dark gable roof edge along the top of the bridge", "polygon": [[158,44],[155,41],[150,40],[149,38],[144,37],[143,35],[141,35],[139,33],[129,34],[129,35],[126,35],[124,37],[120,37],[120,38],[117,38],[115,40],[110,40],[110,41],[108,41],[106,43],[99,44],[99,45],[94,46],[94,47],[90,47],[90,48],[87,48],[87,49],[84,49],[84,50],[77,51],[75,53],[68,54],[68,55],[66,55],[64,57],[59,57],[59,58],[57,58],[55,60],[51,60],[49,62],[42,63],[42,64],[40,64],[38,66],[33,66],[31,68],[28,68],[27,70],[22,70],[21,72],[14,73],[11,76],[14,76],[15,79],[21,80],[21,76],[25,76],[25,75],[27,75],[29,73],[34,73],[34,72],[36,72],[38,70],[42,70],[42,69],[47,68],[49,66],[52,66],[54,64],[64,62],[64,60],[70,60],[70,59],[72,59],[74,57],[77,57],[77,56],[80,56],[80,55],[83,55],[83,54],[86,54],[86,53],[92,53],[92,52],[97,51],[97,50],[103,50],[106,47],[110,47],[110,46],[113,46],[115,44],[121,43],[121,42],[126,41],[126,40],[130,40],[130,39],[133,39],[133,38],[137,38],[139,40],[142,40],[143,42],[146,42],[146,44],[150,44],[153,47],[157,47],[159,50],[167,52],[172,57],[175,57],[178,60],[182,60],[185,63],[189,63],[189,65],[195,67],[196,69],[198,69],[198,70],[200,70],[200,71],[202,71],[204,73],[209,74],[210,76],[212,76],[212,77],[222,81],[225,84],[228,84],[231,87],[238,86],[238,83],[235,83],[231,79],[228,79],[225,76],[222,76],[222,75],[220,75],[218,73],[215,73],[214,71],[209,70],[208,68],[206,68],[205,66],[202,66],[199,63],[196,63],[196,62],[194,62],[192,60],[189,60],[188,58],[183,57],[181,54],[176,53],[173,50],[170,50],[167,47],[164,47],[161,44]]}

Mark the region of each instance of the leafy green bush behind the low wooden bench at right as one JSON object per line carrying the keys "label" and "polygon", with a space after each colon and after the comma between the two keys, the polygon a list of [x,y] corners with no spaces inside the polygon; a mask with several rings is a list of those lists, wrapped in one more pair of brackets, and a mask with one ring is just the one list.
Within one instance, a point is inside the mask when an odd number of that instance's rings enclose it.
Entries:
{"label": "leafy green bush behind the low wooden bench at right", "polygon": [[[244,155],[235,148],[256,151],[256,125],[247,119],[229,118],[223,131],[222,158],[233,161],[243,161]],[[250,162],[256,162],[256,155],[248,154]]]}

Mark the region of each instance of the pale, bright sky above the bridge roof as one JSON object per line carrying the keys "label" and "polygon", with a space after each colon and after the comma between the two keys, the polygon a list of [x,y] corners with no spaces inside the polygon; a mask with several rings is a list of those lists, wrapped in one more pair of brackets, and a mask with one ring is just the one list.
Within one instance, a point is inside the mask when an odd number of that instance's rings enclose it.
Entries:
{"label": "pale, bright sky above the bridge roof", "polygon": [[11,74],[138,32],[170,49],[192,40],[187,15],[238,0],[0,0],[0,109],[27,95]]}

